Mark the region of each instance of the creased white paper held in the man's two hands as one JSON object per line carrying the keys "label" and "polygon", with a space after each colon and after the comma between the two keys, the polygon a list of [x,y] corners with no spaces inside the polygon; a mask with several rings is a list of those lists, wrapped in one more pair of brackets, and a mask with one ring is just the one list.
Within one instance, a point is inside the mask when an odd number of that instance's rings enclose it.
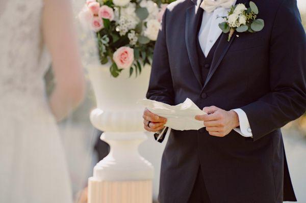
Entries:
{"label": "creased white paper held in the man's two hands", "polygon": [[202,121],[197,121],[194,117],[207,113],[199,109],[189,98],[175,106],[149,99],[140,100],[138,103],[142,104],[152,113],[167,118],[165,126],[174,130],[198,130],[205,127]]}

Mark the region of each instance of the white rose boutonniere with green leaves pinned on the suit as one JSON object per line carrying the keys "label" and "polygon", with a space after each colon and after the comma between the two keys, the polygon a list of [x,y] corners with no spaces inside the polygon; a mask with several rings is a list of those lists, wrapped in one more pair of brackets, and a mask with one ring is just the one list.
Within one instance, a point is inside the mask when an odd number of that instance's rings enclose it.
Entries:
{"label": "white rose boutonniere with green leaves pinned on the suit", "polygon": [[235,31],[255,33],[263,30],[265,22],[263,19],[257,19],[258,7],[254,2],[250,2],[249,5],[249,8],[246,8],[244,4],[232,6],[228,15],[222,17],[225,21],[220,23],[219,27],[223,33],[229,33],[227,41],[231,40]]}

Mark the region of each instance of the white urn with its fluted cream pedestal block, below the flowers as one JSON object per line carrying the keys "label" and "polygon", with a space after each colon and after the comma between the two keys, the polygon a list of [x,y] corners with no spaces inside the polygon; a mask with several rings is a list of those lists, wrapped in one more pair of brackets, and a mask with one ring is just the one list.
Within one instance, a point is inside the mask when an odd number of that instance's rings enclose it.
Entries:
{"label": "white urn with its fluted cream pedestal block, below the flowers", "polygon": [[87,67],[97,101],[90,114],[94,127],[104,131],[101,139],[110,144],[110,153],[96,164],[88,181],[89,203],[152,202],[154,168],[138,153],[147,139],[143,130],[143,108],[150,67],[129,78],[123,70],[113,78],[110,64]]}

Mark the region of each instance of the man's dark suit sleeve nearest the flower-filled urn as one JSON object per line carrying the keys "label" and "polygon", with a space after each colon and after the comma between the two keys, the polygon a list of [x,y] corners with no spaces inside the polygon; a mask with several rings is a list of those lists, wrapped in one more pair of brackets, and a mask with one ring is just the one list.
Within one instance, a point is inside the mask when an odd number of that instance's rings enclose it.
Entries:
{"label": "man's dark suit sleeve nearest the flower-filled urn", "polygon": [[155,44],[151,76],[147,98],[173,105],[174,93],[166,45],[166,15],[164,13],[162,26]]}

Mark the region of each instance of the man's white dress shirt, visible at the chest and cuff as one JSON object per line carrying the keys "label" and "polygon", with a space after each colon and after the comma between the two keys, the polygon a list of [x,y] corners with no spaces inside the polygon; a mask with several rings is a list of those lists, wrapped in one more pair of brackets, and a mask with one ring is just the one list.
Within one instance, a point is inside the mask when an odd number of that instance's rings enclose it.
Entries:
{"label": "man's white dress shirt, visible at the chest and cuff", "polygon": [[[235,4],[236,1],[234,1],[234,5]],[[201,49],[206,57],[222,33],[222,30],[219,27],[219,23],[223,22],[224,20],[221,17],[227,16],[227,12],[229,10],[230,9],[218,7],[211,13],[206,11],[203,12],[202,24],[198,38]],[[233,110],[238,114],[240,124],[240,127],[235,128],[234,130],[244,137],[252,137],[252,130],[250,128],[246,113],[241,108]]]}

